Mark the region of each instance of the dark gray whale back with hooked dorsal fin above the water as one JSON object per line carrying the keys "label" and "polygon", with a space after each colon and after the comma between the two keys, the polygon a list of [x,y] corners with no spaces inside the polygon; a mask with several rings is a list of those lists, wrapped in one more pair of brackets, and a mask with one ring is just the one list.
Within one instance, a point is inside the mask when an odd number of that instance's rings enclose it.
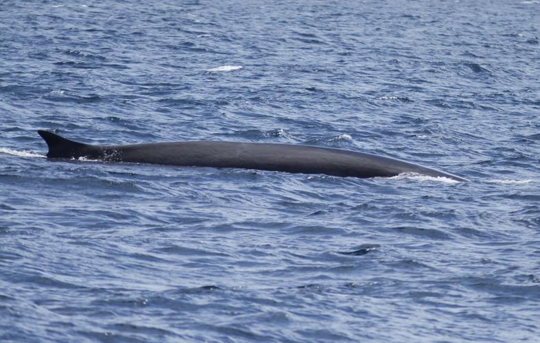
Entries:
{"label": "dark gray whale back with hooked dorsal fin above the water", "polygon": [[416,173],[465,182],[464,178],[395,158],[350,150],[275,143],[185,141],[134,145],[90,145],[38,130],[47,158],[88,158],[106,162],[246,168],[289,173],[373,178]]}

